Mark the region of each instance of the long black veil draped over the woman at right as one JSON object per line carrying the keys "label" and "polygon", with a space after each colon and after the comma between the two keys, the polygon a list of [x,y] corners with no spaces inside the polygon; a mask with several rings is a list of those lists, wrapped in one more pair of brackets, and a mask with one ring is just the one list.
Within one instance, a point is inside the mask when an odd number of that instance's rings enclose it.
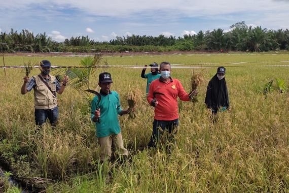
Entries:
{"label": "long black veil draped over the woman at right", "polygon": [[225,77],[219,80],[215,74],[209,81],[205,104],[208,108],[218,110],[219,107],[229,107],[229,95]]}

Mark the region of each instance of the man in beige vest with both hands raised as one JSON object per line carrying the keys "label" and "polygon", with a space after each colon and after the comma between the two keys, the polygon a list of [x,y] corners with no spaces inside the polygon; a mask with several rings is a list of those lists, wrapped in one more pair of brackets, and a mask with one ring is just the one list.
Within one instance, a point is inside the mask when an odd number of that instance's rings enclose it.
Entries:
{"label": "man in beige vest with both hands raised", "polygon": [[41,73],[36,76],[23,78],[24,83],[21,87],[21,94],[34,90],[35,123],[42,125],[48,118],[52,126],[56,125],[58,119],[58,105],[56,92],[62,94],[68,83],[67,76],[64,77],[62,84],[57,79],[49,75],[51,63],[48,60],[40,62]]}

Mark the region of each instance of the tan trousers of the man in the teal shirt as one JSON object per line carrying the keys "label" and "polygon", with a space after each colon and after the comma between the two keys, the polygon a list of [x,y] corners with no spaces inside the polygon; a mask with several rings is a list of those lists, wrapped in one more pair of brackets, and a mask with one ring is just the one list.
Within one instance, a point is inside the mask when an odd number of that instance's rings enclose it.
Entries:
{"label": "tan trousers of the man in the teal shirt", "polygon": [[128,151],[123,146],[122,135],[110,135],[107,137],[98,138],[98,143],[101,150],[100,160],[110,159],[112,156],[112,148],[119,152],[119,155],[127,155]]}

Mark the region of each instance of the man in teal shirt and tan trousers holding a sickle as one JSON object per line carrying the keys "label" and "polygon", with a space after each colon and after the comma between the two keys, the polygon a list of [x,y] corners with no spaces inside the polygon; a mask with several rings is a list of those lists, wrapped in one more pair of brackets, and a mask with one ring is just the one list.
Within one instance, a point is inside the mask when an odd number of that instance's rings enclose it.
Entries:
{"label": "man in teal shirt and tan trousers holding a sickle", "polygon": [[96,135],[101,149],[101,162],[111,160],[112,148],[120,155],[127,156],[124,148],[118,115],[128,114],[134,109],[122,110],[119,94],[111,90],[112,75],[107,72],[99,74],[100,98],[95,96],[91,104],[91,120],[96,125]]}

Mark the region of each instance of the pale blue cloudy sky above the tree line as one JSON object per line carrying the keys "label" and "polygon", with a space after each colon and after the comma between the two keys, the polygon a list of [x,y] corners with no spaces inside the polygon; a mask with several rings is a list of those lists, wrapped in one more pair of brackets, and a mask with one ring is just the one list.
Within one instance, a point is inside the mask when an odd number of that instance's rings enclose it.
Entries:
{"label": "pale blue cloudy sky above the tree line", "polygon": [[245,21],[253,27],[289,29],[289,0],[0,0],[0,32],[11,28],[52,40],[88,36],[193,35]]}

